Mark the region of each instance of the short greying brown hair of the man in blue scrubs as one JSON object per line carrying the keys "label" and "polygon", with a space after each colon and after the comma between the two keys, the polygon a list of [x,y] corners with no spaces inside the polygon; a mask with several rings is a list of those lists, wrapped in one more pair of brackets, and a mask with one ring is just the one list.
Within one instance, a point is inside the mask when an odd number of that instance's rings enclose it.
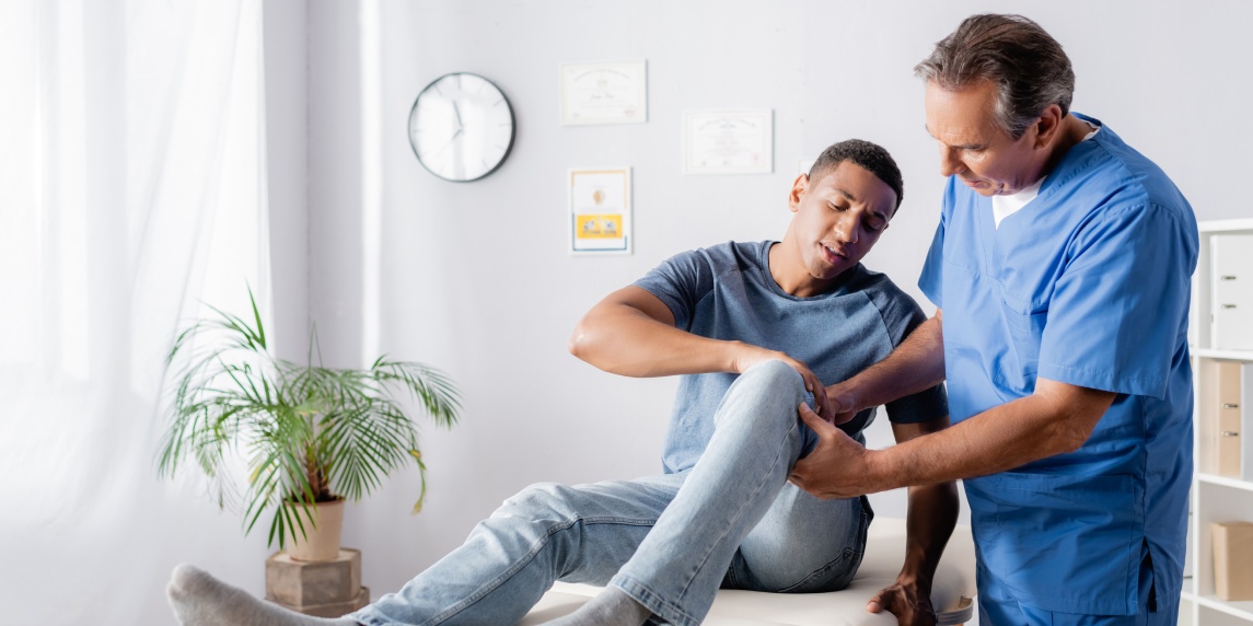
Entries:
{"label": "short greying brown hair of the man in blue scrubs", "polygon": [[1012,139],[1051,104],[1070,113],[1075,73],[1061,44],[1021,15],[966,18],[936,43],[913,75],[942,89],[957,90],[980,80],[996,85],[996,124]]}

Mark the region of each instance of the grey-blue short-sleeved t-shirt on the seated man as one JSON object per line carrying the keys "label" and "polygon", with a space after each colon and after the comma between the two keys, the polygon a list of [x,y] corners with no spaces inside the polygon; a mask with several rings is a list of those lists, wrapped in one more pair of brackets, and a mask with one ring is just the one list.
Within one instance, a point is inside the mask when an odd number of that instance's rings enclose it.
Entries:
{"label": "grey-blue short-sleeved t-shirt on the seated man", "polygon": [[[886,275],[860,263],[828,292],[798,298],[769,272],[774,242],[728,242],[677,254],[635,282],[674,313],[674,326],[712,339],[741,341],[787,353],[823,384],[882,361],[926,317]],[[713,436],[713,413],[738,374],[685,374],[662,462],[667,473],[690,470]],[[926,422],[949,414],[942,386],[887,403],[888,419]],[[862,411],[841,428],[865,443],[875,418]]]}

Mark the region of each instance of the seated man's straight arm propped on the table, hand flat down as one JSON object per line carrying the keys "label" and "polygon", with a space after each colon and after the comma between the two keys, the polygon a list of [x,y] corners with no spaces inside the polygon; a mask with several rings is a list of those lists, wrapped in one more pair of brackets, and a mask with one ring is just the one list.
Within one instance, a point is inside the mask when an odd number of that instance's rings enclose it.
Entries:
{"label": "seated man's straight arm propped on the table, hand flat down", "polygon": [[[947,427],[949,417],[945,416],[930,422],[892,424],[892,432],[901,443]],[[867,611],[891,611],[902,625],[935,623],[931,583],[940,555],[957,523],[959,506],[957,487],[951,481],[910,487],[905,565],[896,583],[871,598]]]}

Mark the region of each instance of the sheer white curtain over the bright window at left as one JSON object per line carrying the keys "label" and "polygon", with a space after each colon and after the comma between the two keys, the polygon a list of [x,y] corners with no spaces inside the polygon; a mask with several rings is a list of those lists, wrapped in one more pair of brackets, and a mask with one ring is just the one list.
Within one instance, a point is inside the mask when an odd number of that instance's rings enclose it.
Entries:
{"label": "sheer white curtain over the bright window at left", "polygon": [[259,591],[262,533],[154,470],[175,331],[269,309],[259,38],[261,0],[0,3],[3,623],[172,623],[179,561]]}

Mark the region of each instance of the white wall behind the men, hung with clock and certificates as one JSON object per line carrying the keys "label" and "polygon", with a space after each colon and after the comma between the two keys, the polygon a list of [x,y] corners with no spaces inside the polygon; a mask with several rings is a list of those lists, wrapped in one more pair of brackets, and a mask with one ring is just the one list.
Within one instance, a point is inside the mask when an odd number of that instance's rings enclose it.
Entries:
{"label": "white wall behind the men, hung with clock and certificates", "polygon": [[[350,508],[345,543],[365,551],[375,596],[459,545],[528,483],[658,471],[674,382],[618,378],[574,359],[570,329],[604,294],[673,253],[781,238],[798,159],[851,136],[893,153],[905,204],[866,264],[921,299],[913,283],[942,180],[911,69],[981,10],[1019,11],[1053,33],[1075,64],[1075,110],[1155,159],[1200,219],[1253,215],[1237,187],[1253,164],[1244,149],[1253,144],[1248,3],[380,0],[367,5],[378,20],[366,28],[356,3],[267,5],[267,19],[278,20],[267,36],[273,28],[307,34],[303,44],[267,44],[288,71],[302,60],[283,46],[307,45],[307,80],[267,64],[269,98],[289,105],[296,124],[276,131],[282,114],[271,105],[272,168],[307,165],[272,180],[276,220],[298,232],[307,219],[308,228],[307,240],[272,233],[276,297],[287,312],[279,319],[303,323],[308,298],[330,364],[382,351],[445,369],[465,394],[460,426],[425,429],[425,512],[407,515],[416,472]],[[363,71],[372,58],[380,61]],[[621,59],[648,61],[648,123],[559,125],[558,64]],[[430,175],[406,133],[417,93],[456,70],[494,80],[517,118],[509,160],[469,184]],[[732,106],[774,110],[774,173],[682,175],[680,113]],[[376,131],[363,130],[371,124]],[[376,148],[363,155],[363,145]],[[634,168],[633,255],[565,253],[564,172],[595,165]],[[304,174],[307,187],[293,183]],[[377,200],[363,200],[372,189]],[[299,343],[281,346],[298,352]],[[871,444],[888,443],[876,424]],[[903,512],[900,495],[876,503],[881,515]]]}

